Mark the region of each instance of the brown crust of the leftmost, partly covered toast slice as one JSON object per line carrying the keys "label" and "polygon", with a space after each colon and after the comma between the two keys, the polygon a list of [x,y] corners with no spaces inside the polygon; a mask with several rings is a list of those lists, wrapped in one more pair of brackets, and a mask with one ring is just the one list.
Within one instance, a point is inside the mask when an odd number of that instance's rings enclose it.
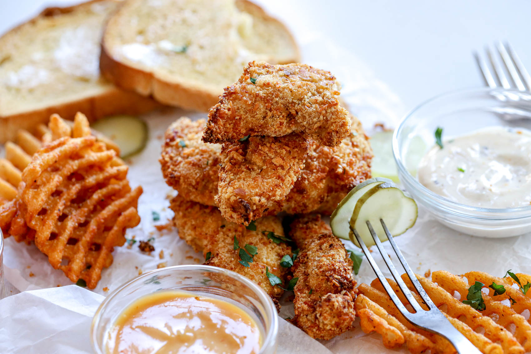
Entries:
{"label": "brown crust of the leftmost, partly covered toast slice", "polygon": [[[36,22],[42,17],[71,13],[80,6],[101,1],[105,0],[91,0],[68,7],[48,7],[31,20],[21,23],[19,26],[5,32],[2,37],[16,35],[16,32],[22,26]],[[73,120],[77,112],[83,112],[89,121],[95,121],[113,114],[142,114],[159,106],[160,104],[149,97],[139,96],[134,92],[124,91],[117,87],[109,87],[108,90],[99,95],[84,97],[71,102],[38,108],[28,112],[10,115],[0,114],[0,144],[4,144],[8,140],[13,140],[20,129],[28,130],[31,133],[35,132],[37,125],[40,123],[48,123],[50,115],[54,113],[61,115],[64,119]]]}

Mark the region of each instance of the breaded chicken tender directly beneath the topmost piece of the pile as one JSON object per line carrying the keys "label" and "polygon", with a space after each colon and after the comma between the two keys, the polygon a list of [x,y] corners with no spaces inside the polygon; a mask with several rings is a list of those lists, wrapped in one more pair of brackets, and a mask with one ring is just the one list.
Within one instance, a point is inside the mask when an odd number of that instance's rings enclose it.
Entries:
{"label": "breaded chicken tender directly beneath the topmost piece of the pile", "polygon": [[249,225],[268,211],[278,213],[301,175],[308,148],[299,134],[223,144],[216,196],[223,217]]}

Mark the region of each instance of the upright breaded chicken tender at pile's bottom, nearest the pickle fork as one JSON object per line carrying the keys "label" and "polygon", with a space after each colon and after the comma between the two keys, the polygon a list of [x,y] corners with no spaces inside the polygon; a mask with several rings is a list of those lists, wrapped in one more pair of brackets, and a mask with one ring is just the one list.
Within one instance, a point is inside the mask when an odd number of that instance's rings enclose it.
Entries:
{"label": "upright breaded chicken tender at pile's bottom, nearest the pickle fork", "polygon": [[320,339],[350,330],[357,290],[345,247],[319,214],[296,218],[289,235],[301,250],[292,267],[298,277],[293,323]]}

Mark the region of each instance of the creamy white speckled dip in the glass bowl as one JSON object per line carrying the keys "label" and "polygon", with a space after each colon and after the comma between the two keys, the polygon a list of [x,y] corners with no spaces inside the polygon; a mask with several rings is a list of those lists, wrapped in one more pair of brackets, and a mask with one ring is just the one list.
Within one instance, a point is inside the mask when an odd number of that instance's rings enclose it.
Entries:
{"label": "creamy white speckled dip in the glass bowl", "polygon": [[[444,132],[443,132],[444,134]],[[531,133],[487,127],[435,145],[418,180],[457,203],[482,208],[531,204]]]}

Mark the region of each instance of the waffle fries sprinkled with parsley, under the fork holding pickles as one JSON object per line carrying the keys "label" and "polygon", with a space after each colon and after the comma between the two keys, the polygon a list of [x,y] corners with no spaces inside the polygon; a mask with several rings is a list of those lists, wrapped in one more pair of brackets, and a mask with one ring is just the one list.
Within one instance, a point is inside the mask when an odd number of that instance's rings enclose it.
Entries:
{"label": "waffle fries sprinkled with parsley, under the fork holding pickles", "polygon": [[[531,309],[526,304],[528,297],[521,292],[518,293],[519,289],[511,288],[514,282],[511,278],[498,278],[481,272],[470,272],[466,273],[465,276],[468,282],[461,276],[437,271],[432,273],[433,281],[419,275],[417,275],[417,279],[434,304],[443,310],[452,325],[483,353],[517,354],[529,351],[531,347],[531,340],[529,340],[531,325],[524,316],[520,315],[522,311]],[[520,282],[531,279],[526,274],[518,274],[518,277]],[[426,309],[422,299],[414,292],[413,284],[407,275],[402,275],[402,279],[413,291],[415,299]],[[494,296],[492,289],[489,289],[490,294],[483,293],[485,310],[479,312],[461,302],[466,299],[468,289],[475,281],[481,281],[485,287],[492,284],[493,281],[496,284],[503,284],[506,293]],[[389,279],[388,282],[402,304],[407,305],[408,302],[398,285]],[[356,298],[355,308],[356,315],[361,319],[362,330],[366,333],[375,331],[382,334],[386,347],[397,348],[405,343],[412,353],[420,353],[427,349],[431,349],[435,353],[455,353],[455,349],[446,339],[410,324],[384,293],[379,280],[374,280],[370,286],[360,284],[358,292],[360,295]],[[453,297],[452,294],[455,292],[459,293],[460,300]],[[512,297],[512,294],[515,297]],[[516,300],[516,304],[510,306],[502,304],[501,301],[508,299],[509,296],[513,299],[522,300],[521,304],[518,305],[518,300]],[[406,330],[420,336],[414,336]],[[429,340],[431,344],[426,340]]]}

